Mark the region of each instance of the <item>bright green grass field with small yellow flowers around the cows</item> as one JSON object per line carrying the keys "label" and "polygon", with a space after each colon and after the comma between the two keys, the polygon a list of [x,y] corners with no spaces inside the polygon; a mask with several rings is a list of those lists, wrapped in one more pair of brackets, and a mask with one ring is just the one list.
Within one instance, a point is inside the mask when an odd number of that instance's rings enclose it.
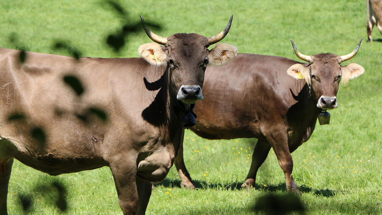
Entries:
{"label": "bright green grass field with small yellow flowers around the cows", "polygon": [[[161,24],[154,32],[165,37],[182,32],[213,36],[233,14],[231,30],[222,42],[237,46],[239,52],[295,60],[289,38],[306,55],[345,55],[363,37],[356,57],[343,65],[355,62],[365,73],[340,86],[330,125],[317,124],[308,142],[292,153],[293,177],[303,193],[306,214],[382,213],[382,35],[374,29],[374,42],[366,42],[365,1],[128,0],[121,5],[127,21],[99,0],[1,1],[0,47],[69,55],[52,48],[55,41],[63,40],[82,56],[138,57],[138,46],[151,42],[143,29],[128,34],[120,52],[107,47],[105,38],[123,24],[139,23],[140,14]],[[257,174],[257,189],[240,189],[256,140],[211,141],[190,131],[185,136],[185,163],[198,189],[180,188],[172,168],[152,192],[146,214],[253,214],[259,197],[285,194],[285,179],[273,150]],[[49,187],[54,183],[63,184],[65,190]],[[58,194],[68,200],[64,211],[52,204]],[[105,167],[53,177],[15,161],[9,214],[24,214],[20,196],[31,200],[25,214],[122,214],[112,175]]]}

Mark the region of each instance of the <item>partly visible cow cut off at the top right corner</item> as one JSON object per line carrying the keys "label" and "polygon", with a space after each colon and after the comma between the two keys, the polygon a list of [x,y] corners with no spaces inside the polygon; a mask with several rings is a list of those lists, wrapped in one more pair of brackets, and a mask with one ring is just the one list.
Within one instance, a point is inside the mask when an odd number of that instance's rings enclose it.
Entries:
{"label": "partly visible cow cut off at the top right corner", "polygon": [[382,34],[382,0],[366,0],[367,7],[367,41],[372,42],[371,31],[373,30],[374,24],[377,26],[379,32]]}

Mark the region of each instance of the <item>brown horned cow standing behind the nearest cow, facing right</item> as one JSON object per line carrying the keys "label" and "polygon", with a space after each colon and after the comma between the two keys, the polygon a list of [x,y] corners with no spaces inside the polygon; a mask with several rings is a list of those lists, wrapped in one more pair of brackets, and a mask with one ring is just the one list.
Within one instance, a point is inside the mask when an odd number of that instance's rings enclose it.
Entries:
{"label": "brown horned cow standing behind the nearest cow, facing right", "polygon": [[[340,80],[346,83],[364,72],[358,64],[340,65],[356,55],[361,40],[344,56],[303,55],[292,41],[297,57],[308,64],[284,57],[238,54],[222,67],[207,67],[206,99],[196,104],[198,123],[191,130],[207,139],[257,138],[242,187],[255,185],[257,169],[272,147],[285,174],[286,188],[301,194],[291,175],[291,152],[309,139],[320,112],[337,108]],[[193,188],[183,147],[175,166],[181,186]]]}

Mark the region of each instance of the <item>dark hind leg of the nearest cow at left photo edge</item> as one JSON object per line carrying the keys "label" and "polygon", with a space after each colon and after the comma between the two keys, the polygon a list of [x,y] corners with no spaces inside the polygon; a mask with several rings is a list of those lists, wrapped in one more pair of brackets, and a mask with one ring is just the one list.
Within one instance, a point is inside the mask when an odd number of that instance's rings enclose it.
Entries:
{"label": "dark hind leg of the nearest cow at left photo edge", "polygon": [[[2,171],[0,172],[0,214],[8,214],[6,211],[6,198],[8,195],[8,183],[11,177],[13,158],[8,160],[4,166],[2,165]],[[4,173],[3,173],[4,171]]]}

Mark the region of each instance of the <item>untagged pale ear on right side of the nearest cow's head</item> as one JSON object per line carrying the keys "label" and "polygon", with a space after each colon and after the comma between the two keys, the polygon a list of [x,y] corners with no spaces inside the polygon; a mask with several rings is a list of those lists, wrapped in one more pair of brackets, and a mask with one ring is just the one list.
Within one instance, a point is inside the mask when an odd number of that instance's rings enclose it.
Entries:
{"label": "untagged pale ear on right side of the nearest cow's head", "polygon": [[222,65],[236,57],[238,48],[229,44],[216,44],[208,53],[208,62],[210,65]]}

